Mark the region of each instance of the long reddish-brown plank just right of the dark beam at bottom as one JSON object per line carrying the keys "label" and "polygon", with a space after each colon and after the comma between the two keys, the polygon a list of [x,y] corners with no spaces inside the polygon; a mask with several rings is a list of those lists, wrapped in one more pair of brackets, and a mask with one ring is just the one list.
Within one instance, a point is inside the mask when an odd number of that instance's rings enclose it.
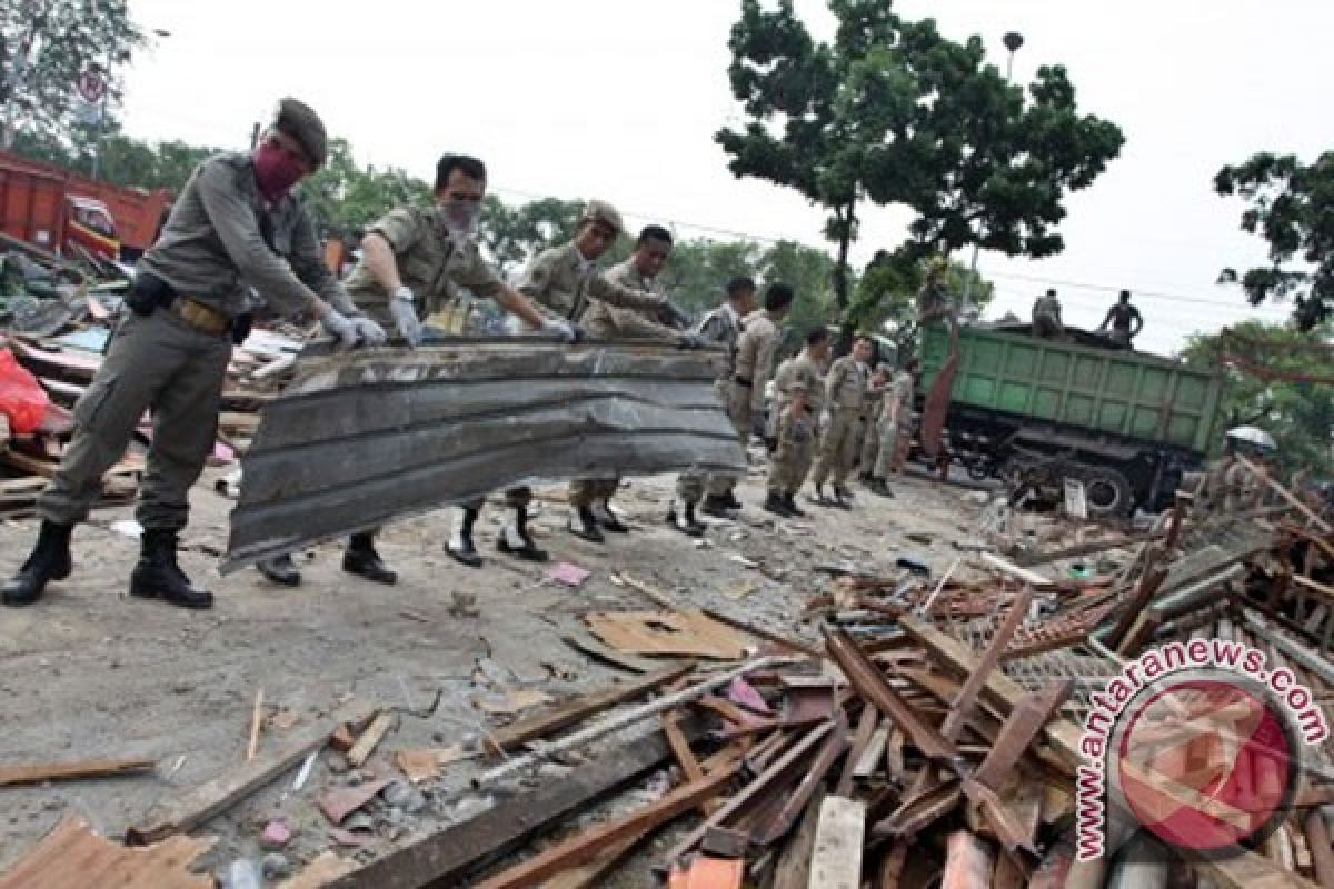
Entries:
{"label": "long reddish-brown plank just right of the dark beam at bottom", "polygon": [[719,769],[703,781],[682,785],[656,802],[570,837],[503,873],[483,880],[474,889],[526,889],[566,868],[591,861],[607,845],[636,836],[646,828],[671,821],[718,794],[736,774],[738,768]]}

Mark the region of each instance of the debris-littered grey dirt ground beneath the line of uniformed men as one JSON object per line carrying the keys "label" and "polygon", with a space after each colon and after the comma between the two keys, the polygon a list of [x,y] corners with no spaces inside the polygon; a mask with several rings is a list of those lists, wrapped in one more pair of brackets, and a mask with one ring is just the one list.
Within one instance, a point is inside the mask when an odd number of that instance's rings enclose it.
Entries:
{"label": "debris-littered grey dirt ground beneath the line of uniformed men", "polygon": [[[212,470],[196,486],[183,556],[187,572],[217,594],[212,610],[191,613],[125,596],[137,544],[112,524],[129,518],[129,508],[101,509],[79,528],[73,576],[55,584],[39,605],[0,610],[0,762],[141,756],[159,764],[137,777],[0,789],[0,872],[64,816],[81,814],[99,832],[117,836],[155,804],[225,774],[245,757],[259,688],[267,704],[296,717],[296,726],[350,696],[422,710],[442,692],[431,717],[400,716],[362,773],[347,773],[339,754],[325,750],[301,790],[291,790],[293,769],[199,832],[220,838],[204,864],[221,874],[239,856],[257,860],[263,825],[283,817],[295,834],[284,854],[300,866],[334,848],[316,808],[320,794],[376,774],[398,777],[388,765],[394,750],[476,738],[488,718],[478,706],[502,700],[506,690],[536,689],[564,700],[628,677],[562,641],[580,626],[583,612],[651,608],[614,585],[612,570],[626,570],[683,605],[716,606],[814,638],[814,626],[800,621],[800,605],[826,578],[812,566],[891,570],[896,557],[911,554],[940,573],[959,554],[952,541],[976,537],[982,510],[975,492],[907,477],[894,484],[894,498],[859,488],[851,512],[810,505],[806,520],[775,522],[758,508],[763,476],[754,466],[738,492],[747,504],[742,520],[712,524],[707,542],[696,544],[663,524],[671,478],[644,478],[618,497],[634,533],[602,546],[564,530],[563,504],[543,504],[536,533],[552,562],[592,572],[579,589],[555,586],[543,580],[543,568],[496,553],[503,510],[491,506],[478,534],[487,557],[482,570],[446,556],[448,512],[440,510],[383,533],[380,552],[399,570],[398,585],[343,573],[340,545],[324,544],[299,558],[304,584],[289,590],[249,569],[217,574],[231,501],[213,492],[215,477]],[[33,532],[31,521],[3,525],[0,570],[21,561]],[[451,616],[454,590],[476,593],[482,616]],[[268,728],[261,749],[279,745],[281,734],[281,728]],[[470,817],[487,805],[467,789],[478,768],[451,765],[440,781],[422,785],[422,798],[376,802],[370,810],[376,838],[360,850],[339,852],[368,861]],[[560,768],[550,772],[555,777]],[[632,860],[608,885],[655,885],[643,865]]]}

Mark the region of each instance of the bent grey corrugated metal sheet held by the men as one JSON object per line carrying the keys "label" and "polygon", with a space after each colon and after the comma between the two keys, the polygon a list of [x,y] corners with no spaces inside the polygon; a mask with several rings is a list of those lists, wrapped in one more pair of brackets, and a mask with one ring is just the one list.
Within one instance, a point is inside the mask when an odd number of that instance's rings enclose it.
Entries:
{"label": "bent grey corrugated metal sheet held by the men", "polygon": [[512,339],[307,351],[241,461],[221,570],[528,481],[743,470],[724,361]]}

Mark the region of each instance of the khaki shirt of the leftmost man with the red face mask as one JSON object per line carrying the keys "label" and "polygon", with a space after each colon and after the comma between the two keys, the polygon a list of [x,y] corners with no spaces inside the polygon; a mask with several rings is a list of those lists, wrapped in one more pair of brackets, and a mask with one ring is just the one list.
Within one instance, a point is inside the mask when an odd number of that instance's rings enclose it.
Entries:
{"label": "khaki shirt of the leftmost man with the red face mask", "polygon": [[343,315],[358,313],[324,265],[300,200],[285,195],[265,207],[255,163],[237,152],[215,155],[195,168],[139,269],[228,316],[249,308],[247,287],[284,315],[307,308],[307,288]]}

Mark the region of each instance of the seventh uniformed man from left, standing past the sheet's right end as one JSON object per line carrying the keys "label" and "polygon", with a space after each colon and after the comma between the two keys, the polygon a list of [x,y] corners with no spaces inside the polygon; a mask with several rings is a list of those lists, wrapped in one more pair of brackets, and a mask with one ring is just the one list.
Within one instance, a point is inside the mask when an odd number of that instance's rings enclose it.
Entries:
{"label": "seventh uniformed man from left, standing past the sheet's right end", "polygon": [[783,379],[774,380],[775,446],[768,468],[764,509],[784,518],[804,514],[796,506],[796,492],[806,481],[815,453],[828,339],[828,331],[823,327],[811,331],[806,336],[806,348],[786,365]]}

